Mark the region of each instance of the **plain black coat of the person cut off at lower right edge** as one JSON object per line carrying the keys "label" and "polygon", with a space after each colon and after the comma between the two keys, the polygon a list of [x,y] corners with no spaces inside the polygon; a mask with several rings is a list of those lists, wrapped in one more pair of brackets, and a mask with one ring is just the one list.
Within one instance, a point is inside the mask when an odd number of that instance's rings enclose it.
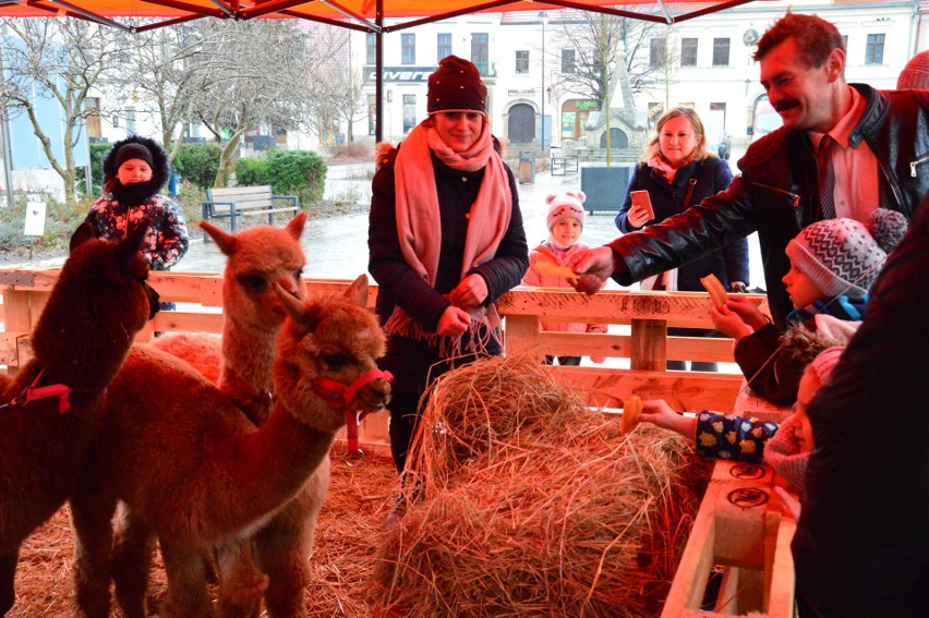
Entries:
{"label": "plain black coat of the person cut off at lower right edge", "polygon": [[793,542],[801,616],[929,616],[927,202],[807,408],[816,449]]}

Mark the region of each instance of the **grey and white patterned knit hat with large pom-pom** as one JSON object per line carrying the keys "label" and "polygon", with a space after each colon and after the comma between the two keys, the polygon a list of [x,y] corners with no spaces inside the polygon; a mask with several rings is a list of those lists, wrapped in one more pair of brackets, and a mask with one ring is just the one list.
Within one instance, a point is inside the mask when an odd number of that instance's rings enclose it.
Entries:
{"label": "grey and white patterned knit hat with large pom-pom", "polygon": [[871,213],[867,226],[855,219],[817,221],[787,243],[787,257],[827,296],[860,299],[868,295],[906,225],[903,215],[886,208]]}

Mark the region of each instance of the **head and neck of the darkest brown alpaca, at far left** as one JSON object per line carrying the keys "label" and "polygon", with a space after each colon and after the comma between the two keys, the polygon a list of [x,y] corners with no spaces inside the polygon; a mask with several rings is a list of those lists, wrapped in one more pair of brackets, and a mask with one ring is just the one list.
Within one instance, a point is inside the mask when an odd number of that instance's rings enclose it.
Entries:
{"label": "head and neck of the darkest brown alpaca, at far left", "polygon": [[88,388],[112,378],[105,374],[119,368],[135,334],[158,311],[158,294],[146,283],[148,263],[138,252],[147,229],[140,225],[116,243],[94,238],[86,225],[77,228],[33,334],[40,363],[84,372],[79,379],[88,380]]}

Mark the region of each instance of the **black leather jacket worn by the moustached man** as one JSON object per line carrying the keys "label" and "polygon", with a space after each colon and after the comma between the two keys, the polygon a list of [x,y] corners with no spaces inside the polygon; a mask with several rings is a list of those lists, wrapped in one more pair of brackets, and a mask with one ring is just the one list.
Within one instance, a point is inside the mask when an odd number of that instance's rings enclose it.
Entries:
{"label": "black leather jacket worn by the moustached man", "polygon": [[[874,153],[880,205],[912,221],[929,194],[929,92],[852,87],[868,102],[849,143],[865,141]],[[781,281],[791,267],[784,250],[821,219],[816,153],[806,131],[781,128],[751,144],[738,166],[726,191],[610,243],[619,258],[613,278],[629,286],[757,231],[771,313],[784,328],[793,308]]]}

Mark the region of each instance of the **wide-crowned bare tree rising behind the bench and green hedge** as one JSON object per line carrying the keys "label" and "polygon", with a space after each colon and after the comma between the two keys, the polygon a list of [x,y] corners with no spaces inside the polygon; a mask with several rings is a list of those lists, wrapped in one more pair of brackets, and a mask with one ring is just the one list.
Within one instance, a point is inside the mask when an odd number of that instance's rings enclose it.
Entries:
{"label": "wide-crowned bare tree rising behind the bench and green hedge", "polygon": [[210,58],[193,83],[191,109],[222,143],[215,186],[225,186],[245,132],[305,123],[312,96],[306,75],[315,63],[306,33],[291,21],[213,20],[198,32],[210,41]]}

